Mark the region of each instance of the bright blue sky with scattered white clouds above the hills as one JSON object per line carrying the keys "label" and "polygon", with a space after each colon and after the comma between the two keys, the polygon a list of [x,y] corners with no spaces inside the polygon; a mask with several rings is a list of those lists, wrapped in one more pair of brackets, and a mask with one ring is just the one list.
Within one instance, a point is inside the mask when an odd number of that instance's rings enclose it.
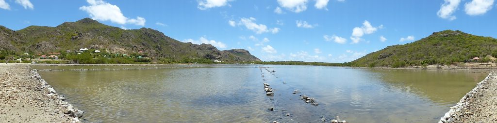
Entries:
{"label": "bright blue sky with scattered white clouds above the hills", "polygon": [[262,61],[350,62],[433,32],[497,37],[494,0],[0,0],[20,30],[92,18],[183,42],[243,48]]}

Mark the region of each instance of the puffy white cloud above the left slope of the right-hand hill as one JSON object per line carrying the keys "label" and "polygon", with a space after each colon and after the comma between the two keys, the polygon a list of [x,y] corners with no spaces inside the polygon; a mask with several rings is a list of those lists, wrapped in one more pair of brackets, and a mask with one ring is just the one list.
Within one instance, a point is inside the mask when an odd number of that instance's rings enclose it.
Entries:
{"label": "puffy white cloud above the left slope of the right-hand hill", "polygon": [[365,34],[373,34],[378,31],[378,28],[382,29],[383,25],[373,27],[369,21],[365,20],[364,23],[362,23],[362,27],[355,27],[352,29],[352,36],[350,37],[351,43],[359,43],[359,41],[363,40],[361,39],[362,36]]}

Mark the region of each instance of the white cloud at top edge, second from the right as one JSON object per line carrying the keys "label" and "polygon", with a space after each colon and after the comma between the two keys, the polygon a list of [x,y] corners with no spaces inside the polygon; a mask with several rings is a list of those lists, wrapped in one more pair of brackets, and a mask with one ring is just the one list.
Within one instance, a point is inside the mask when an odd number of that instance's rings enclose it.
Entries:
{"label": "white cloud at top edge, second from the right", "polygon": [[438,17],[443,18],[443,19],[448,19],[448,20],[454,20],[456,19],[456,16],[452,15],[456,9],[457,6],[459,6],[459,3],[461,0],[444,0],[445,2],[440,6],[440,10],[436,13]]}

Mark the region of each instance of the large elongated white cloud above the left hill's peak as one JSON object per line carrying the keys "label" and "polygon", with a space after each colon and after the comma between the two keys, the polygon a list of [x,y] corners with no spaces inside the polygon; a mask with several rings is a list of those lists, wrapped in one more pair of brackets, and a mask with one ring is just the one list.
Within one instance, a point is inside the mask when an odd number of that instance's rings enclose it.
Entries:
{"label": "large elongated white cloud above the left hill's peak", "polygon": [[86,11],[94,20],[111,21],[117,24],[135,24],[145,26],[145,18],[136,17],[127,18],[116,5],[110,4],[103,0],[86,0],[88,6],[81,6],[80,10]]}

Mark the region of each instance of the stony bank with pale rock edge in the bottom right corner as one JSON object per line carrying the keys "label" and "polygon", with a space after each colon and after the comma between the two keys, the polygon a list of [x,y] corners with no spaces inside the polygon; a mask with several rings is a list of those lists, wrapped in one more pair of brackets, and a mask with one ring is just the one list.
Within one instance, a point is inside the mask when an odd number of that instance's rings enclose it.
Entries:
{"label": "stony bank with pale rock edge in the bottom right corner", "polygon": [[450,107],[438,123],[497,123],[497,71]]}

